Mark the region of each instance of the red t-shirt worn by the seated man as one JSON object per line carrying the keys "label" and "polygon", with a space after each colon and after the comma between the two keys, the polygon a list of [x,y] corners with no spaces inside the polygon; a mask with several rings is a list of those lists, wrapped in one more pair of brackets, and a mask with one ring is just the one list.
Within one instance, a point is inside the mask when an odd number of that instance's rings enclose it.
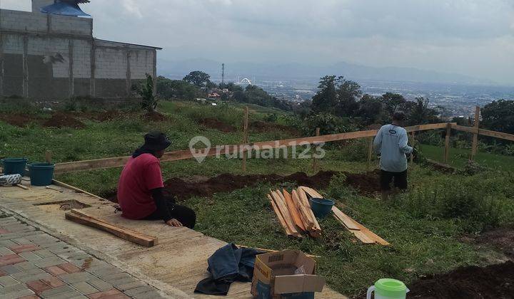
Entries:
{"label": "red t-shirt worn by the seated man", "polygon": [[143,219],[157,207],[151,189],[164,187],[161,164],[153,154],[131,157],[125,164],[118,182],[118,203],[123,216],[128,219]]}

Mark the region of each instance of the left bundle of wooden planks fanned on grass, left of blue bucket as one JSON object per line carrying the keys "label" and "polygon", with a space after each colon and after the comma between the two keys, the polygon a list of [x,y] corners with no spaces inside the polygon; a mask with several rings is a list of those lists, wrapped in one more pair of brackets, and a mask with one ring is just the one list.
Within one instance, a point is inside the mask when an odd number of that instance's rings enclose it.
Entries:
{"label": "left bundle of wooden planks fanned on grass, left of blue bucket", "polygon": [[311,210],[307,195],[303,189],[293,189],[289,193],[286,189],[271,191],[268,194],[271,206],[277,215],[278,221],[288,236],[302,238],[308,234],[313,238],[321,236],[321,227]]}

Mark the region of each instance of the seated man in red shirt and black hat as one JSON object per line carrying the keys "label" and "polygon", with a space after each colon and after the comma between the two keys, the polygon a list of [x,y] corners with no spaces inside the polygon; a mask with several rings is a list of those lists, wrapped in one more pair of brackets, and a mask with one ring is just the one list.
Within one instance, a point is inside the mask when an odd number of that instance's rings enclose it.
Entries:
{"label": "seated man in red shirt and black hat", "polygon": [[169,226],[193,229],[195,212],[175,204],[173,197],[165,194],[159,158],[171,142],[161,132],[150,132],[144,139],[144,145],[132,154],[121,171],[118,202],[123,216],[135,220],[163,220]]}

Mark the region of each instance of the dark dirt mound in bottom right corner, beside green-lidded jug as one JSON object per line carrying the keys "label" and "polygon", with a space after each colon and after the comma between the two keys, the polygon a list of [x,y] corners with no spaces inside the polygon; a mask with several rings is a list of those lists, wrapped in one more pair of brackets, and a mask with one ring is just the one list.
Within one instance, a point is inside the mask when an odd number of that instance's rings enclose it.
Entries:
{"label": "dark dirt mound in bottom right corner, beside green-lidded jug", "polygon": [[408,298],[513,298],[514,263],[458,268],[408,285]]}

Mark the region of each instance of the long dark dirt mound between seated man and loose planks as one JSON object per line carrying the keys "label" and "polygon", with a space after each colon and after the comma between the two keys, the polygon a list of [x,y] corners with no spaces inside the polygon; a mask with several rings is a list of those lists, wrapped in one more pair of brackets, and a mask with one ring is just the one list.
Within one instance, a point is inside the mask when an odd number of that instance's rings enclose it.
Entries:
{"label": "long dark dirt mound between seated man and loose planks", "polygon": [[244,187],[251,187],[258,182],[296,182],[298,185],[306,185],[315,189],[323,189],[328,187],[332,177],[336,172],[318,172],[318,174],[308,177],[303,172],[297,172],[287,177],[278,174],[251,174],[251,175],[234,175],[220,174],[207,180],[198,182],[186,182],[183,179],[174,177],[168,179],[164,186],[168,191],[177,196],[179,200],[185,200],[191,196],[212,196],[217,192],[231,192]]}

